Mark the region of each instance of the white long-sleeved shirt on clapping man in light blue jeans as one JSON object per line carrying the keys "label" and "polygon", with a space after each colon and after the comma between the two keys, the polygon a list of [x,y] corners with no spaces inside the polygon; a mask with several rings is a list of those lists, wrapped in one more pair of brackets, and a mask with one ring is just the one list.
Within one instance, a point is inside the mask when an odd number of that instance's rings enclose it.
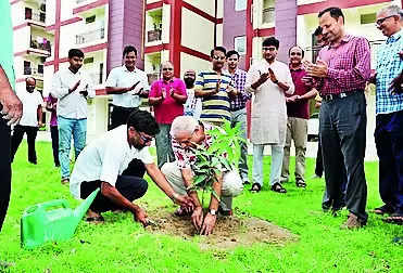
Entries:
{"label": "white long-sleeved shirt on clapping man in light blue jeans", "polygon": [[[68,89],[72,89],[78,80],[80,80],[78,88],[74,92],[68,93]],[[87,118],[87,99],[79,93],[85,90],[88,91],[87,98],[96,96],[92,81],[81,69],[76,74],[68,68],[56,72],[53,76],[50,93],[59,99],[58,116],[73,119]]]}

